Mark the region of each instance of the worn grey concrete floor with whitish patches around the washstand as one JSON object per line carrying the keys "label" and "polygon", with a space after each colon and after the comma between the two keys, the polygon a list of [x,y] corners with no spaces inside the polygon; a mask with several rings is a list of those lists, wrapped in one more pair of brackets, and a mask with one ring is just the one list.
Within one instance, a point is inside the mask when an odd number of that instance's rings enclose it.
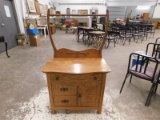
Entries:
{"label": "worn grey concrete floor with whitish patches around the washstand", "polygon": [[[160,88],[153,96],[149,107],[144,103],[147,98],[151,83],[133,77],[132,83],[127,81],[122,94],[119,94],[127,70],[128,56],[131,52],[145,51],[149,42],[155,42],[160,37],[157,30],[154,38],[149,38],[142,43],[128,42],[108,49],[103,49],[103,58],[107,61],[112,72],[107,76],[104,108],[102,115],[88,111],[60,112],[51,115],[49,112],[49,99],[46,76],[41,72],[49,58],[53,57],[53,50],[49,38],[41,39],[41,46],[17,46],[8,51],[10,58],[5,53],[0,54],[0,120],[160,120]],[[76,42],[75,34],[66,34],[58,31],[54,35],[58,48],[67,47],[74,50],[86,49],[83,42]],[[45,93],[45,96],[41,95]],[[37,100],[38,99],[38,100]],[[34,102],[33,102],[34,101]],[[42,104],[47,105],[43,112]],[[35,112],[35,106],[39,107]],[[32,111],[34,109],[34,111]],[[33,114],[31,114],[33,113]],[[74,115],[73,115],[74,114]],[[77,116],[75,116],[75,114]],[[45,117],[47,116],[47,117]],[[74,117],[73,117],[74,116]],[[85,116],[85,117],[84,117]],[[108,120],[107,119],[107,120]]]}

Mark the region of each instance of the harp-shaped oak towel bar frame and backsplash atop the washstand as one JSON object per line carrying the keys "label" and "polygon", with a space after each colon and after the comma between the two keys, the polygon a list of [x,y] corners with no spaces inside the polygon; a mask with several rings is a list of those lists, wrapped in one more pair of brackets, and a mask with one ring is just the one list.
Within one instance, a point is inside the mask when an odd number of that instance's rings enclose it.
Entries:
{"label": "harp-shaped oak towel bar frame and backsplash atop the washstand", "polygon": [[[82,58],[86,58],[86,57],[102,57],[102,49],[103,46],[105,44],[106,41],[106,36],[107,36],[107,32],[108,32],[108,26],[109,26],[109,11],[106,10],[106,14],[50,14],[50,10],[48,9],[48,13],[47,13],[47,23],[48,23],[48,28],[50,28],[50,17],[55,17],[55,16],[105,16],[106,17],[106,29],[105,29],[105,34],[103,36],[103,42],[101,44],[101,46],[99,47],[99,49],[95,49],[95,48],[91,48],[91,49],[86,49],[86,50],[82,50],[82,51],[75,51],[75,50],[69,50],[69,49],[57,49],[55,44],[54,44],[54,40],[52,38],[52,34],[51,34],[51,29],[49,29],[49,37],[50,37],[50,41],[54,50],[54,57],[55,58],[68,58],[68,57],[82,57]],[[83,55],[81,53],[84,53]],[[68,55],[68,53],[70,55]],[[73,55],[76,54],[76,55]]]}

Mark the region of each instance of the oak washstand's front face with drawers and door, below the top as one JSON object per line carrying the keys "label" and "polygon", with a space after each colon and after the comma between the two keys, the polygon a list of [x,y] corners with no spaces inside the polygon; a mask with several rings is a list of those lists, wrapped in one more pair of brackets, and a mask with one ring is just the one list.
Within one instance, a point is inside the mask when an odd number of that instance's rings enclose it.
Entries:
{"label": "oak washstand's front face with drawers and door, below the top", "polygon": [[102,88],[102,74],[49,75],[54,106],[97,107]]}

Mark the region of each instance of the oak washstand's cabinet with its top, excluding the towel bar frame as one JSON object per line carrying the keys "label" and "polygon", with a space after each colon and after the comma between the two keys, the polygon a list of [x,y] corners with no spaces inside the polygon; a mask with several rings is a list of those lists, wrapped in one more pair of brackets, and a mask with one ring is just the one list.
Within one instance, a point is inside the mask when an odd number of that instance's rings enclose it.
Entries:
{"label": "oak washstand's cabinet with its top, excluding the towel bar frame", "polygon": [[55,110],[102,111],[106,74],[103,58],[53,58],[43,70],[47,75],[51,113]]}

